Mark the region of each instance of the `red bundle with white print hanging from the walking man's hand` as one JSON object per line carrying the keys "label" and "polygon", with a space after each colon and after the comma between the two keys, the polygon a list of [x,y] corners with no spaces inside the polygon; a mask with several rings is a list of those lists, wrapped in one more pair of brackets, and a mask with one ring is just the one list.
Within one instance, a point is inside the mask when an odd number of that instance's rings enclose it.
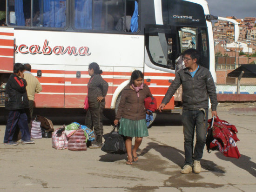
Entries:
{"label": "red bundle with white print hanging from the walking man's hand", "polygon": [[236,136],[236,126],[229,124],[217,116],[208,120],[206,137],[207,151],[218,150],[226,157],[238,159],[241,155],[236,146],[239,139]]}

